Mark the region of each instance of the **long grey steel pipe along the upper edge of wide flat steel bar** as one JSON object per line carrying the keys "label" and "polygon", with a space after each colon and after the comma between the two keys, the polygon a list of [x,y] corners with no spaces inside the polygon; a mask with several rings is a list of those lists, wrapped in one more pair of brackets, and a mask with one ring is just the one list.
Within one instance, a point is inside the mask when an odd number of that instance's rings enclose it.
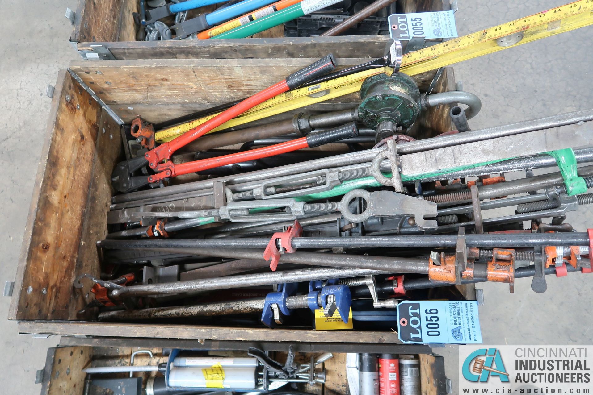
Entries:
{"label": "long grey steel pipe along the upper edge of wide flat steel bar", "polygon": [[[486,129],[452,134],[449,136],[433,137],[432,139],[417,140],[415,142],[405,142],[398,144],[398,153],[403,155],[406,153],[421,152],[425,150],[454,146],[457,144],[466,144],[480,140],[495,139],[496,137],[512,136],[514,134],[527,133],[534,130],[550,129],[552,127],[578,123],[579,121],[591,120],[593,120],[593,110],[573,111],[572,113],[553,115],[551,117],[537,118],[535,120],[529,121],[521,121],[517,123],[506,124],[504,126],[489,127]],[[291,175],[296,172],[302,173],[324,168],[335,168],[339,166],[353,165],[356,163],[370,162],[375,157],[375,155],[381,151],[382,148],[380,147],[359,152],[336,155],[332,156],[331,158],[310,160],[308,162],[298,163],[296,165],[280,166],[278,168],[268,169],[265,171],[255,171],[240,175],[189,182],[187,184],[172,185],[170,187],[160,188],[158,190],[129,192],[127,194],[114,196],[113,203],[125,203],[146,198],[204,190],[207,188],[212,188],[212,185],[215,181],[225,181],[227,184],[241,184],[267,178],[275,178],[278,176]]]}

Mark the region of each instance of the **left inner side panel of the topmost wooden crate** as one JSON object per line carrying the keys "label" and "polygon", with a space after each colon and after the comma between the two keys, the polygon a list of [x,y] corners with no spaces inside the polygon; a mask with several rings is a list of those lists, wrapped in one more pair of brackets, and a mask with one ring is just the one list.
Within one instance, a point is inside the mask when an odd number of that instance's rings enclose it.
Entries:
{"label": "left inner side panel of the topmost wooden crate", "polygon": [[[120,17],[129,0],[79,0],[71,41],[119,41]],[[125,37],[129,37],[126,35]],[[87,46],[88,47],[88,46]]]}

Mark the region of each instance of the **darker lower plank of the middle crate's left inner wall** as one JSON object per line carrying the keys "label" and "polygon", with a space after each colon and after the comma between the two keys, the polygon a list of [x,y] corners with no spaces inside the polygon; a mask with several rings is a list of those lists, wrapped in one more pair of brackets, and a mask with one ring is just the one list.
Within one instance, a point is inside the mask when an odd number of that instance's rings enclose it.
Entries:
{"label": "darker lower plank of the middle crate's left inner wall", "polygon": [[[107,213],[112,195],[111,172],[122,155],[120,126],[104,110],[99,121],[95,147],[91,184],[85,204],[81,242],[76,254],[74,273],[88,273],[98,277],[100,262],[95,243],[107,236]],[[94,298],[90,292],[92,285],[91,281],[85,281],[84,288],[74,289],[75,300],[71,303],[68,319],[81,318],[76,316],[76,312]]]}

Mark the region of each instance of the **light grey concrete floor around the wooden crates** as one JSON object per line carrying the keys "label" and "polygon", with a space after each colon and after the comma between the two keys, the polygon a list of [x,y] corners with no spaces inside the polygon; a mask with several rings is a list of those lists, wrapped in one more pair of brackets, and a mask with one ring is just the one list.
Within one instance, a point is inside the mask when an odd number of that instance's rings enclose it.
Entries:
{"label": "light grey concrete floor around the wooden crates", "polygon": [[[26,4],[26,7],[23,5]],[[521,2],[458,0],[455,18],[459,34],[524,17],[563,4],[562,0]],[[14,280],[33,182],[45,133],[50,99],[44,92],[59,69],[78,55],[68,44],[71,31],[63,17],[76,1],[0,0],[0,163],[8,182],[0,187],[2,284]],[[593,53],[591,27],[563,33],[525,46],[505,50],[455,66],[464,89],[479,94],[482,112],[470,121],[473,129],[512,121],[591,108]],[[585,230],[593,219],[591,207],[581,207],[568,221]],[[593,276],[593,275],[591,275]],[[480,285],[486,305],[480,322],[486,344],[589,344],[593,314],[586,313],[593,297],[593,277],[570,275],[549,278],[545,294],[530,290],[528,280],[518,280],[515,294],[499,284]],[[0,301],[6,317],[8,298]],[[35,371],[43,367],[46,349],[58,339],[19,336],[16,323],[0,320],[0,377],[2,394],[36,394]],[[447,371],[457,388],[455,348],[435,350],[447,355]]]}

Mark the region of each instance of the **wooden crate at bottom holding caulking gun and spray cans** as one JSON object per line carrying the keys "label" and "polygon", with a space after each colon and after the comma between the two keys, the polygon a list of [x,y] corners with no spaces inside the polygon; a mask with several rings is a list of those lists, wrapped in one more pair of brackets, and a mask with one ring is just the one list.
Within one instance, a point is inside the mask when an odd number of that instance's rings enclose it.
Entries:
{"label": "wooden crate at bottom holding caulking gun and spray cans", "polygon": [[[63,338],[64,339],[64,338]],[[130,365],[130,357],[133,351],[139,349],[148,349],[153,357],[147,354],[138,354],[135,357],[134,365],[158,365],[161,362],[167,362],[167,348],[196,349],[195,347],[184,347],[176,345],[175,342],[162,343],[155,346],[154,342],[110,342],[110,345],[93,345],[94,342],[89,339],[71,339],[66,338],[60,341],[59,347],[49,348],[47,350],[46,364],[43,371],[38,375],[39,382],[42,384],[41,395],[58,395],[81,393],[84,387],[85,373],[82,369],[87,367],[109,367],[109,366],[127,366]],[[257,345],[256,345],[257,346]],[[246,357],[243,347],[203,347],[202,350],[209,350],[208,354],[218,357],[238,356]],[[204,352],[202,351],[202,352]],[[266,349],[278,361],[285,358],[285,349]],[[326,349],[327,351],[327,349]],[[297,362],[308,362],[311,357],[317,357],[318,353],[326,352],[315,350],[311,352],[297,351]],[[364,349],[350,352],[365,352]],[[203,354],[205,355],[205,354]],[[426,350],[426,354],[417,354],[420,359],[420,390],[423,395],[445,395],[447,394],[444,358],[439,355],[431,354],[431,350]],[[349,388],[346,378],[346,354],[344,352],[333,352],[333,358],[328,359],[323,364],[326,370],[326,383],[306,386],[304,388],[308,393],[317,395],[348,395]],[[318,370],[320,367],[317,368]],[[134,377],[143,377],[144,384],[148,377],[157,375],[155,372],[135,372]],[[95,375],[99,377],[99,375]],[[127,377],[125,374],[101,375],[101,377]]]}

